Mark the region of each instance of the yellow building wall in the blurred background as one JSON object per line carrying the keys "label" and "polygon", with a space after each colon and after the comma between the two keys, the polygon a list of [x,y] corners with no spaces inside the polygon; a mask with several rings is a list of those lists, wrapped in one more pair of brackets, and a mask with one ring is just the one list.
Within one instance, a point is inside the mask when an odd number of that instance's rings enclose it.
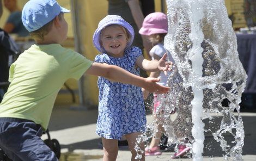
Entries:
{"label": "yellow building wall in the blurred background", "polygon": [[[22,9],[27,0],[19,0],[17,2]],[[255,25],[255,10],[251,11],[252,8],[255,9],[255,2],[253,2],[253,7],[251,2],[249,0],[246,3],[243,0],[225,0],[228,15],[233,18],[234,29],[246,27],[246,18]],[[58,0],[58,3],[64,8],[71,10],[70,14],[64,14],[69,24],[69,30],[68,39],[63,43],[63,46],[76,49],[76,51],[85,55],[88,59],[94,60],[94,57],[99,52],[93,46],[92,37],[98,22],[107,15],[107,0]],[[246,4],[246,18],[243,4]],[[165,6],[165,1],[155,0],[155,11],[166,12]],[[4,7],[3,9],[3,16],[0,19],[1,28],[9,16],[8,10]],[[28,43],[29,38],[16,38],[15,35],[13,37],[24,48],[31,45]],[[65,83],[59,92],[56,105],[82,104],[82,107],[95,108],[98,101],[97,97],[97,77],[85,75],[80,82],[69,79]]]}

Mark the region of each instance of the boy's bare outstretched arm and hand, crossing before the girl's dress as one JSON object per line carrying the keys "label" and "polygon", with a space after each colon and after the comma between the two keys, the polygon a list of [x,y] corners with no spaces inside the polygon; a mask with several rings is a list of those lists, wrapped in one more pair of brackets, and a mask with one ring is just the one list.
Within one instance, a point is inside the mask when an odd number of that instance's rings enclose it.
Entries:
{"label": "boy's bare outstretched arm and hand, crossing before the girl's dress", "polygon": [[86,71],[88,75],[95,75],[105,77],[113,82],[121,82],[126,84],[132,84],[140,86],[150,92],[156,92],[163,94],[168,92],[169,88],[163,85],[159,85],[159,78],[143,78],[122,69],[115,65],[93,63],[92,66]]}

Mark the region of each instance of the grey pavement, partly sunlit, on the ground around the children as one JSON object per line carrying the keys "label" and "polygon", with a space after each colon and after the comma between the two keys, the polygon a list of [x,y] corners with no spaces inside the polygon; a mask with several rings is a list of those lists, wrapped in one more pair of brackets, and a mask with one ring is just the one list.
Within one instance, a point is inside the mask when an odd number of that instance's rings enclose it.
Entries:
{"label": "grey pavement, partly sunlit, on the ground around the children", "polygon": [[[245,129],[245,145],[243,146],[243,160],[256,160],[256,113],[241,113]],[[57,139],[61,146],[61,161],[68,160],[102,160],[103,150],[100,148],[100,137],[95,134],[97,110],[74,110],[70,107],[54,107],[50,125],[51,139]],[[150,114],[147,121],[152,122]],[[207,125],[206,125],[207,126]],[[231,137],[230,137],[231,138]],[[42,135],[47,139],[47,135]],[[210,145],[212,144],[212,145]],[[224,160],[221,148],[214,143],[213,137],[205,135],[205,149],[203,160]],[[163,152],[161,156],[148,156],[146,160],[192,160],[189,158],[170,159],[174,152]],[[131,153],[127,147],[119,149],[117,160],[130,160]]]}

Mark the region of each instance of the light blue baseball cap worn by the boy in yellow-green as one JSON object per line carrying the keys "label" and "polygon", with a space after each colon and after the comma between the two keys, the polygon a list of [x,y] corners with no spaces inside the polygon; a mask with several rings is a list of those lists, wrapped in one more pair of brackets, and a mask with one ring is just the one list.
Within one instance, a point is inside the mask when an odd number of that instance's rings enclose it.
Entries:
{"label": "light blue baseball cap worn by the boy in yellow-green", "polygon": [[30,0],[22,9],[21,20],[25,28],[33,32],[52,21],[59,13],[69,12],[55,0]]}

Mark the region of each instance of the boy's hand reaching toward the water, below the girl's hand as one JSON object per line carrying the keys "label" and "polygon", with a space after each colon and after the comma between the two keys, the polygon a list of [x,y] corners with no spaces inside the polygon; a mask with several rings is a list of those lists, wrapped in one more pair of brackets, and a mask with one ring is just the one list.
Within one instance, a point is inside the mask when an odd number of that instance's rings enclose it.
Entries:
{"label": "boy's hand reaching toward the water, below the girl's hand", "polygon": [[146,83],[145,86],[143,86],[145,90],[149,92],[155,92],[156,94],[166,94],[169,91],[169,88],[167,86],[163,86],[156,83],[159,82],[159,78],[148,77],[145,79]]}

